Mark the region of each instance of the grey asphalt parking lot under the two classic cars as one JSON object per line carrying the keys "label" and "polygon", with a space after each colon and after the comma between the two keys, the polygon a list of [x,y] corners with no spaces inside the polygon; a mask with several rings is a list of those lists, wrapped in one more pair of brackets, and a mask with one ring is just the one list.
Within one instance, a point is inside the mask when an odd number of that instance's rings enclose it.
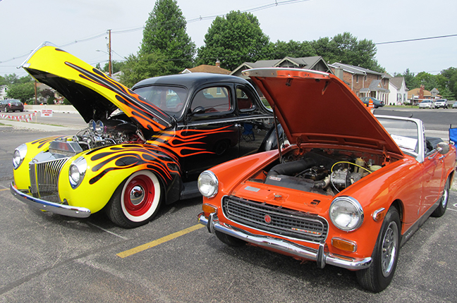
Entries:
{"label": "grey asphalt parking lot under the two classic cars", "polygon": [[391,285],[257,247],[227,247],[197,224],[201,198],[164,207],[135,229],[104,214],[75,219],[30,209],[8,190],[20,143],[74,130],[0,126],[1,302],[456,302],[457,192],[400,252]]}

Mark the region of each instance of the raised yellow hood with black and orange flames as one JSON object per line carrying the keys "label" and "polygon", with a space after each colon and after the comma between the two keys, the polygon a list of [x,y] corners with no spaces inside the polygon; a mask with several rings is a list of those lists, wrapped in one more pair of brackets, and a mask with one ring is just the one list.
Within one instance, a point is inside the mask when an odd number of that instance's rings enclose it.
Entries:
{"label": "raised yellow hood with black and orange flames", "polygon": [[173,126],[173,118],[146,99],[57,47],[40,47],[23,63],[23,68],[66,97],[86,122],[106,118],[120,109],[146,130]]}

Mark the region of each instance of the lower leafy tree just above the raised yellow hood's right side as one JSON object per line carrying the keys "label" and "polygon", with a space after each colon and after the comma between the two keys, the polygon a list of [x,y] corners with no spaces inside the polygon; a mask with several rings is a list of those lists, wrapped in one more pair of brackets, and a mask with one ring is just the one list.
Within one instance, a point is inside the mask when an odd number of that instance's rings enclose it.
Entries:
{"label": "lower leafy tree just above the raised yellow hood's right side", "polygon": [[164,54],[155,51],[152,54],[130,54],[122,66],[120,76],[121,83],[132,87],[136,82],[159,75],[169,75],[172,68],[176,68],[173,62],[166,61]]}

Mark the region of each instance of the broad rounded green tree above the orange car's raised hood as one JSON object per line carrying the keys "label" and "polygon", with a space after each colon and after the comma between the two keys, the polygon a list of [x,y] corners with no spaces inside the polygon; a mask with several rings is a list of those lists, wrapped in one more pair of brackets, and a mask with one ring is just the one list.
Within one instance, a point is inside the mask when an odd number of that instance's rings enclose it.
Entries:
{"label": "broad rounded green tree above the orange car's raised hood", "polygon": [[233,70],[246,61],[261,60],[273,52],[269,37],[260,29],[252,13],[231,11],[217,17],[205,35],[205,45],[198,49],[197,64],[214,64]]}

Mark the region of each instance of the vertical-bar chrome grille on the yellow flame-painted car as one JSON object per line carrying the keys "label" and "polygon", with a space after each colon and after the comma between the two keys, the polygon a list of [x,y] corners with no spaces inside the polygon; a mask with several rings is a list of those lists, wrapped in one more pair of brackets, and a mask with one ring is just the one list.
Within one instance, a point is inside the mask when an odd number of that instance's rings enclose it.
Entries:
{"label": "vertical-bar chrome grille on the yellow flame-painted car", "polygon": [[59,199],[59,173],[68,158],[39,163],[30,163],[30,191],[33,197],[49,202],[61,203]]}

